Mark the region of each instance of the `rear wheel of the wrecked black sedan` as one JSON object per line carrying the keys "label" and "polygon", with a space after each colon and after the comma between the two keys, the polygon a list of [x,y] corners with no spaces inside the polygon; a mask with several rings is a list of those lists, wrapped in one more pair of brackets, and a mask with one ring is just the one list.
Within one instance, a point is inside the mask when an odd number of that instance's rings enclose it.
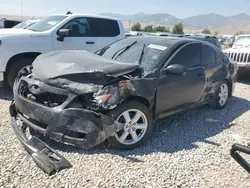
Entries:
{"label": "rear wheel of the wrecked black sedan", "polygon": [[223,81],[220,85],[219,91],[215,96],[215,100],[209,104],[211,108],[223,109],[226,107],[230,96],[229,85],[227,81]]}

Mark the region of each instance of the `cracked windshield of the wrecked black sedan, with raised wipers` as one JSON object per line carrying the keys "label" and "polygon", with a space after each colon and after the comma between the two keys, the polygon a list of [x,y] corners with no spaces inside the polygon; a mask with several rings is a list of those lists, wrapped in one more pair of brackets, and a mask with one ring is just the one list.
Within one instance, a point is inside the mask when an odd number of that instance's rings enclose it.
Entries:
{"label": "cracked windshield of the wrecked black sedan, with raised wipers", "polygon": [[[127,48],[130,46],[129,48]],[[124,50],[126,49],[126,50]],[[163,44],[149,44],[136,39],[124,39],[96,52],[97,55],[126,63],[140,63],[144,71],[151,70],[167,49]]]}

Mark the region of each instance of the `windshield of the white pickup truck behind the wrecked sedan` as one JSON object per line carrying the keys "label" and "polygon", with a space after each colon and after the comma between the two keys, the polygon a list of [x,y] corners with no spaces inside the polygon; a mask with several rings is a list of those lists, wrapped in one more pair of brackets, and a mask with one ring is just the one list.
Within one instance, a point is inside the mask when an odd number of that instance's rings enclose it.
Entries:
{"label": "windshield of the white pickup truck behind the wrecked sedan", "polygon": [[62,22],[65,18],[67,18],[67,16],[50,16],[27,27],[26,29],[36,32],[48,31]]}

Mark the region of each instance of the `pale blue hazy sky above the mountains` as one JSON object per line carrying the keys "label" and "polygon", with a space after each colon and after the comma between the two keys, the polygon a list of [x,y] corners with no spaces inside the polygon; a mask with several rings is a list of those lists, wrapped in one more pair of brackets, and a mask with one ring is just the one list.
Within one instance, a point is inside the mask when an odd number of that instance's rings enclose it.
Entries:
{"label": "pale blue hazy sky above the mountains", "polygon": [[0,14],[47,16],[57,13],[169,13],[178,18],[219,13],[250,14],[250,0],[0,0]]}

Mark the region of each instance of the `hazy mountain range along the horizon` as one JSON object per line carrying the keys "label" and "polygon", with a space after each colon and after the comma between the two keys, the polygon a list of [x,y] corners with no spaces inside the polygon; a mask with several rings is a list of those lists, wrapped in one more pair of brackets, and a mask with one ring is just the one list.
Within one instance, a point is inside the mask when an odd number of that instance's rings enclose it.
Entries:
{"label": "hazy mountain range along the horizon", "polygon": [[101,15],[120,18],[124,23],[135,24],[137,22],[142,25],[165,25],[173,26],[182,23],[184,27],[189,29],[220,29],[231,28],[235,30],[250,31],[250,15],[241,13],[235,16],[223,16],[216,13],[191,16],[180,19],[173,15],[162,14],[146,14],[137,13],[133,15],[122,15],[114,13],[102,13]]}

